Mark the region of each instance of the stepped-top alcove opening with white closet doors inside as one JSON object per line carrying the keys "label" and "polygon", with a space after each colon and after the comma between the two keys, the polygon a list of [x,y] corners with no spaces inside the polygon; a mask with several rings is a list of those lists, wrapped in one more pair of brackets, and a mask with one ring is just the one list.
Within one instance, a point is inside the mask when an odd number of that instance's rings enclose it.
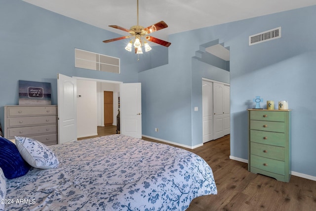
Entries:
{"label": "stepped-top alcove opening with white closet doors inside", "polygon": [[200,45],[203,143],[230,134],[230,49],[219,40]]}

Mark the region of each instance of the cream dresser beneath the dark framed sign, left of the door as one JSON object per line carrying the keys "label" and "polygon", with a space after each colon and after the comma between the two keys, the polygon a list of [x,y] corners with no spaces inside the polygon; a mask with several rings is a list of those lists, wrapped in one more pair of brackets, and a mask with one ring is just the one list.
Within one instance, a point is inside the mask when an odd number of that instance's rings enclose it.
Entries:
{"label": "cream dresser beneath the dark framed sign, left of the door", "polygon": [[4,137],[23,136],[58,144],[56,105],[4,106]]}

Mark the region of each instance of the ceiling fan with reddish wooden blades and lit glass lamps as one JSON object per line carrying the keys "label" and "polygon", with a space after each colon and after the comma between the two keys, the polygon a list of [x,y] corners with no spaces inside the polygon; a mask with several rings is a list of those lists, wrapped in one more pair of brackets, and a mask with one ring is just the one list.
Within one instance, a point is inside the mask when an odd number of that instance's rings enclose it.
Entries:
{"label": "ceiling fan with reddish wooden blades and lit glass lamps", "polygon": [[[152,49],[146,41],[155,42],[157,44],[160,44],[160,45],[163,45],[166,47],[169,47],[171,44],[171,42],[166,42],[166,41],[160,40],[158,38],[154,38],[152,36],[149,36],[150,33],[156,32],[160,29],[167,28],[168,25],[164,21],[160,21],[160,22],[155,23],[154,25],[151,25],[151,26],[146,27],[146,28],[139,25],[139,23],[138,23],[138,0],[137,0],[137,25],[136,26],[132,26],[129,30],[125,29],[123,27],[117,26],[117,25],[110,25],[109,27],[128,32],[130,35],[119,37],[119,38],[114,38],[111,40],[106,40],[106,41],[103,41],[104,43],[114,42],[114,41],[123,40],[123,39],[127,39],[127,38],[132,38],[132,40],[130,42],[128,42],[125,49],[128,51],[132,51],[132,46],[134,45],[135,53],[138,53],[138,54],[143,53],[142,46],[145,47],[146,52],[150,51]],[[133,42],[134,42],[134,44],[133,44]]]}

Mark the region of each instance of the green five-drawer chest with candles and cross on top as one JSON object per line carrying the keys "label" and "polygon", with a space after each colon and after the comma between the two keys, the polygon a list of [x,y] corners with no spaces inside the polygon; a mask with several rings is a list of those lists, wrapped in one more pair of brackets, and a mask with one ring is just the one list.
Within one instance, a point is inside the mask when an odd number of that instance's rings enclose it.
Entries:
{"label": "green five-drawer chest with candles and cross on top", "polygon": [[248,170],[289,182],[291,111],[248,109],[248,113]]}

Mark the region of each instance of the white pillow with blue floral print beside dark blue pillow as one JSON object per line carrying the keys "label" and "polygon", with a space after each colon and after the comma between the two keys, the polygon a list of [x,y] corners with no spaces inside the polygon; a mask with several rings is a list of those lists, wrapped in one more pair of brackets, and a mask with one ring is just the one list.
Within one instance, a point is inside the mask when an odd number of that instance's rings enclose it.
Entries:
{"label": "white pillow with blue floral print beside dark blue pillow", "polygon": [[58,167],[59,161],[55,153],[40,141],[15,136],[15,144],[21,156],[32,167],[37,169]]}

